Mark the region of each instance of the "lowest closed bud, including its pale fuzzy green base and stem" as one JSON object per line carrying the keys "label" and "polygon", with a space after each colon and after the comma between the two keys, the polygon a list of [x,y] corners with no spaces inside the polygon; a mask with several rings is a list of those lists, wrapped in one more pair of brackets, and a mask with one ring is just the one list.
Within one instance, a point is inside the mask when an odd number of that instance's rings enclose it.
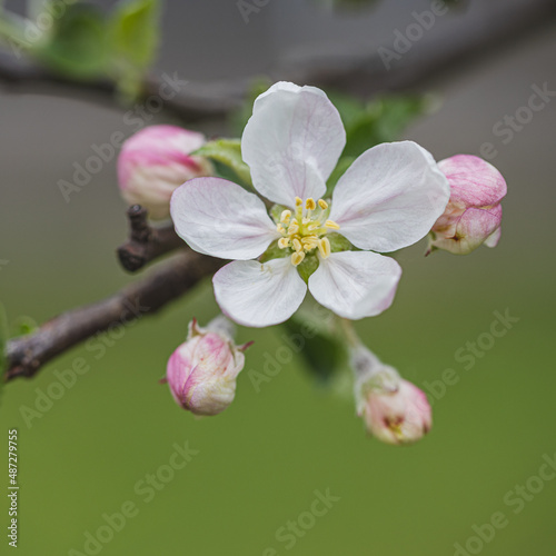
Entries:
{"label": "lowest closed bud, including its pale fuzzy green base and stem", "polygon": [[383,364],[365,346],[354,351],[357,413],[367,430],[387,444],[419,440],[433,426],[425,393],[400,378],[396,369]]}

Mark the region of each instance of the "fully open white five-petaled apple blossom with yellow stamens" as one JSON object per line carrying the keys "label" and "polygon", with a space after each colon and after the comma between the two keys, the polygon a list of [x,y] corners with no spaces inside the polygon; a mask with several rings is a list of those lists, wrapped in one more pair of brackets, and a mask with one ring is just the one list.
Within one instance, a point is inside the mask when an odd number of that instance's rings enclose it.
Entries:
{"label": "fully open white five-petaled apple blossom with yellow stamens", "polygon": [[255,189],[277,203],[275,220],[259,197],[224,179],[192,179],[173,192],[178,235],[199,252],[235,259],[212,280],[225,315],[252,327],[282,322],[307,288],[349,319],[391,305],[401,269],[378,252],[428,234],[448,181],[415,142],[384,143],[355,160],[324,199],[345,143],[340,116],[320,89],[279,82],[257,98],[241,138]]}

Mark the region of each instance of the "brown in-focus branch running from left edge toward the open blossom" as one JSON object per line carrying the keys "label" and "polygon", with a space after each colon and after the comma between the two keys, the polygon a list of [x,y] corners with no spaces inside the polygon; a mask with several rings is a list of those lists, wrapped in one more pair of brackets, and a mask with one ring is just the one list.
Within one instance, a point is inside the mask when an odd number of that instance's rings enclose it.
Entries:
{"label": "brown in-focus branch running from left edge toward the open blossom", "polygon": [[216,272],[224,262],[187,250],[113,296],[72,309],[44,322],[29,336],[9,340],[4,380],[32,377],[46,363],[87,338],[159,311]]}

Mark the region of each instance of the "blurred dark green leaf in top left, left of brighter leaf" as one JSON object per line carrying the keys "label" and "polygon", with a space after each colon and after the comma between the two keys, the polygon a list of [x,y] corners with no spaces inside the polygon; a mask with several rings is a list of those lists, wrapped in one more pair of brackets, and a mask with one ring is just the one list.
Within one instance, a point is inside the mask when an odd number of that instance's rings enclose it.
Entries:
{"label": "blurred dark green leaf in top left, left of brighter leaf", "polygon": [[50,40],[33,53],[52,70],[75,79],[93,79],[106,73],[109,61],[107,27],[93,6],[69,4],[57,20]]}

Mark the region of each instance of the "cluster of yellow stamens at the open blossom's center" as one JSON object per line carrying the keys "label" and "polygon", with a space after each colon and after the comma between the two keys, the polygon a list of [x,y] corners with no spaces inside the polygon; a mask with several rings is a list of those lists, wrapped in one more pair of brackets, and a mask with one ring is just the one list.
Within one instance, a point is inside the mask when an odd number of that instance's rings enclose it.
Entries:
{"label": "cluster of yellow stamens at the open blossom's center", "polygon": [[280,249],[291,249],[291,264],[297,267],[302,262],[305,256],[318,249],[320,256],[326,259],[330,256],[330,241],[326,234],[329,230],[339,230],[340,227],[332,220],[327,220],[328,203],[319,199],[308,198],[304,201],[296,197],[296,209],[284,210],[276,229],[282,235],[278,240]]}

